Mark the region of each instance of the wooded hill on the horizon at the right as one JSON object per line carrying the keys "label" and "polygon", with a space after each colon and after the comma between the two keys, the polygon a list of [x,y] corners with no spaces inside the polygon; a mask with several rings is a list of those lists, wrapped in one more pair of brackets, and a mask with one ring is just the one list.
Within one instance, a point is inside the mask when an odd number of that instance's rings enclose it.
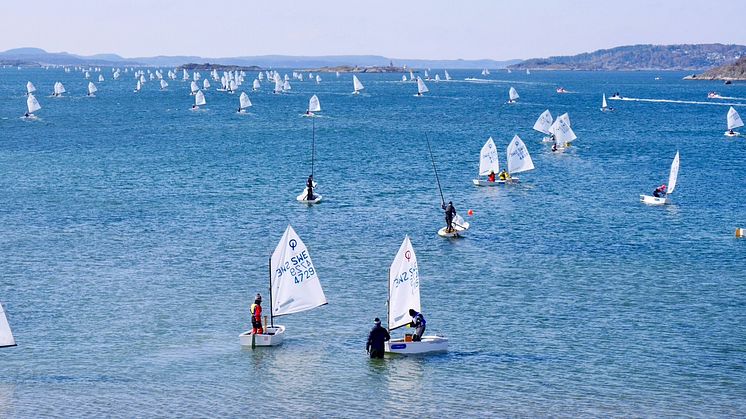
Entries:
{"label": "wooded hill on the horizon at the right", "polygon": [[705,70],[746,56],[744,45],[629,45],[573,56],[532,58],[509,66],[538,70]]}

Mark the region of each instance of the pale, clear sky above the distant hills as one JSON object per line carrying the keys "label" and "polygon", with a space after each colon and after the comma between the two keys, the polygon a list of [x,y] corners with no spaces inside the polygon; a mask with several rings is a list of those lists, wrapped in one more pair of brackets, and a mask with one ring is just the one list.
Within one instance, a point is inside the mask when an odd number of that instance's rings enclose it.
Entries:
{"label": "pale, clear sky above the distant hills", "polygon": [[[3,0],[0,51],[526,59],[629,44],[746,44],[724,0]],[[219,7],[218,7],[219,6]]]}

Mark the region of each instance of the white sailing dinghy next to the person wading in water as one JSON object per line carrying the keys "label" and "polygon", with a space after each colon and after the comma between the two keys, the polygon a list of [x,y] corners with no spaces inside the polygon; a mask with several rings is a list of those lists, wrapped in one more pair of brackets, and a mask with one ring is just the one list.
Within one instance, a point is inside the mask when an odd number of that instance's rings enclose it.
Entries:
{"label": "white sailing dinghy next to the person wading in water", "polygon": [[[389,268],[389,298],[388,298],[388,330],[394,331],[408,325],[412,318],[409,310],[420,312],[420,280],[417,255],[409,240],[404,236],[404,241],[399,246],[394,261]],[[411,335],[404,338],[391,339],[385,344],[385,352],[415,355],[448,351],[448,339],[437,335],[422,336],[420,341],[412,341]]]}

